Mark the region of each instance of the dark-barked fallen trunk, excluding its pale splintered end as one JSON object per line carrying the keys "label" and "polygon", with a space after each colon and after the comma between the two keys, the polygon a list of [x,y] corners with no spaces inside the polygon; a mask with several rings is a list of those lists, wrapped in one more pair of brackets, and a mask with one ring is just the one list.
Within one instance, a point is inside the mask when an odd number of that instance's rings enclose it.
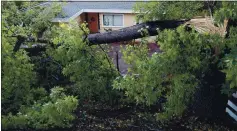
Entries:
{"label": "dark-barked fallen trunk, excluding its pale splintered end", "polygon": [[120,30],[89,34],[88,41],[90,45],[129,41],[143,37],[141,32],[139,32],[139,30],[142,28],[147,29],[149,36],[154,36],[158,34],[157,29],[164,30],[177,28],[181,24],[184,24],[186,21],[188,20],[162,20],[141,23],[134,26],[122,28]]}

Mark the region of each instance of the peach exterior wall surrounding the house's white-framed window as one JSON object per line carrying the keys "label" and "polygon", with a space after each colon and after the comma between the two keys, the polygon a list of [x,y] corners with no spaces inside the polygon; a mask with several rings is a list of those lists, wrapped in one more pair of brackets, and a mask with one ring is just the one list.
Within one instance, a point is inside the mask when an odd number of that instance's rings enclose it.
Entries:
{"label": "peach exterior wall surrounding the house's white-framed window", "polygon": [[[108,13],[100,13],[99,14],[99,23],[100,23],[100,32],[105,32],[105,29],[112,29],[112,30],[118,30],[124,27],[132,26],[136,24],[135,14],[123,14],[123,27],[104,27],[103,26],[103,14]],[[113,13],[111,13],[113,14]]]}

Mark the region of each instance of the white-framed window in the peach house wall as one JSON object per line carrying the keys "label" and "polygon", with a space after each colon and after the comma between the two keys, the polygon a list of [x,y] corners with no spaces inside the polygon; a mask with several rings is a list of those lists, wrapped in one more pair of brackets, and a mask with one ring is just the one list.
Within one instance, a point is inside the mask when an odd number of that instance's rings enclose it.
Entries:
{"label": "white-framed window in the peach house wall", "polygon": [[123,26],[123,15],[105,14],[103,15],[104,26]]}

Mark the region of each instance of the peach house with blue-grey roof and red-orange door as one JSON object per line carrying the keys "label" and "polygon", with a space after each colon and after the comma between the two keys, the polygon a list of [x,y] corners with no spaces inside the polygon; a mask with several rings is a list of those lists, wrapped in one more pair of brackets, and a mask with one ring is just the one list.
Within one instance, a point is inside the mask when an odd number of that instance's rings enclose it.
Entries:
{"label": "peach house with blue-grey roof and red-orange door", "polygon": [[67,23],[70,20],[88,23],[90,33],[117,30],[136,24],[133,6],[136,2],[67,2],[62,13],[52,20],[55,23]]}

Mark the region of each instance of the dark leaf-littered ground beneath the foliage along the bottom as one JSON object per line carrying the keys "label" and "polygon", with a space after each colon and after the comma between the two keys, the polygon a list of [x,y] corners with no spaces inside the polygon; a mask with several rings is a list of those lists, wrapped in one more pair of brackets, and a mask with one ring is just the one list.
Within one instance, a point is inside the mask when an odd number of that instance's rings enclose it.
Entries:
{"label": "dark leaf-littered ground beneath the foliage along the bottom", "polygon": [[[96,107],[96,108],[95,108]],[[147,111],[146,111],[147,112]],[[152,111],[144,114],[144,109],[136,105],[111,107],[84,104],[77,111],[77,119],[70,129],[63,131],[234,131],[237,126],[228,120],[205,120],[184,115],[169,123],[155,121]],[[57,129],[55,129],[57,130]],[[54,130],[54,131],[55,131]]]}

